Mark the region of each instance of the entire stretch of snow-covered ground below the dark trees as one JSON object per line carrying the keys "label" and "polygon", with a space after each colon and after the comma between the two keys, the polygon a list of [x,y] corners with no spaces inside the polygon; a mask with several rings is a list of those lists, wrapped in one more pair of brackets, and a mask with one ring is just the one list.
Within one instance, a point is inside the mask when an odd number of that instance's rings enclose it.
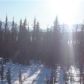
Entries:
{"label": "entire stretch of snow-covered ground below the dark trees", "polygon": [[[20,73],[22,84],[80,84],[80,70],[75,66],[70,66],[68,69],[57,66],[53,76],[53,70],[43,64],[21,65],[9,62],[4,65],[4,72],[8,68],[11,71],[12,84],[21,84],[19,83]],[[52,82],[48,83],[48,80]],[[0,82],[0,84],[2,83]],[[8,84],[6,78],[3,80],[3,84]]]}

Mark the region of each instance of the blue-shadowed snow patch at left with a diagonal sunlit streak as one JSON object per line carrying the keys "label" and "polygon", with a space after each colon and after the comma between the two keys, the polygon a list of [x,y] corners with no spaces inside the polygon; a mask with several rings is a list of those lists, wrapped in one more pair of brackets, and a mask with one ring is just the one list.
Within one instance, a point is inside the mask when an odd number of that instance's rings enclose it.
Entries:
{"label": "blue-shadowed snow patch at left with a diagonal sunlit streak", "polygon": [[[4,68],[5,72],[10,68],[12,84],[19,84],[20,72],[22,76],[22,84],[46,84],[51,75],[51,69],[46,68],[42,64],[32,64],[27,66],[7,63]],[[7,84],[6,80],[4,80],[4,84]]]}

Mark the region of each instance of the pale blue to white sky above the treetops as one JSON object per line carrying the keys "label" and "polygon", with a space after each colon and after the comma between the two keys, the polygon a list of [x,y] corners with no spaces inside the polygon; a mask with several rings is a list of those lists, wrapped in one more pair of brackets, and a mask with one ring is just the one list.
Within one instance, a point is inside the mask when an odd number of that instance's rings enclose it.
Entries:
{"label": "pale blue to white sky above the treetops", "polygon": [[0,20],[6,15],[9,21],[27,18],[33,25],[34,18],[42,28],[53,26],[58,17],[60,24],[84,22],[84,0],[0,0]]}

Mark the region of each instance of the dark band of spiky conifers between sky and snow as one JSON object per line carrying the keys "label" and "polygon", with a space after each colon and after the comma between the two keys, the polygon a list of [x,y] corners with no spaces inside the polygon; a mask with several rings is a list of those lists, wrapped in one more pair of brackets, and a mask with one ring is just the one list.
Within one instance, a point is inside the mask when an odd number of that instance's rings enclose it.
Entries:
{"label": "dark band of spiky conifers between sky and snow", "polygon": [[[4,23],[4,25],[3,25]],[[14,62],[28,64],[30,60],[39,61],[53,66],[69,63],[69,33],[59,24],[56,18],[52,28],[43,31],[39,22],[34,19],[32,29],[27,20],[20,20],[19,25],[14,21],[9,26],[8,17],[5,22],[0,21],[0,57],[12,59]],[[67,27],[68,28],[68,27]],[[73,31],[75,59],[83,63],[84,26]],[[79,59],[80,58],[80,59]],[[82,60],[82,61],[80,61]]]}

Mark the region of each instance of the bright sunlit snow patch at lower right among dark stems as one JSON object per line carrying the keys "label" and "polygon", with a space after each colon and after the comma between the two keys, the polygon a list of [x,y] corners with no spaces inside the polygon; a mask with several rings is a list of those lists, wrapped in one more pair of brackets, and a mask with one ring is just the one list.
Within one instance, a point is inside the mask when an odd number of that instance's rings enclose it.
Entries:
{"label": "bright sunlit snow patch at lower right among dark stems", "polygon": [[56,72],[55,84],[80,84],[80,71],[75,66],[70,66],[67,71],[58,66]]}

